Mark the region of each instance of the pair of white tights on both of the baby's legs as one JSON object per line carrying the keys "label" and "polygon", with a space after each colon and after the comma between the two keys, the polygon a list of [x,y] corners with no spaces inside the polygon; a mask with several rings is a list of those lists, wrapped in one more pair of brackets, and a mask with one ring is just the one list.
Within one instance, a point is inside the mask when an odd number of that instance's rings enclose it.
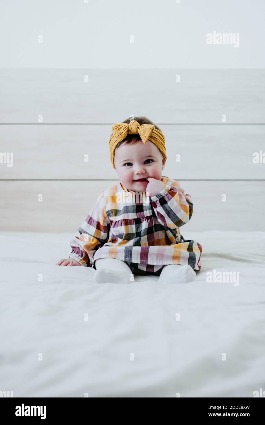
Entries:
{"label": "pair of white tights on both of the baby's legs", "polygon": [[[95,261],[96,283],[131,283],[134,275],[124,261],[117,258],[99,258]],[[157,283],[187,283],[195,279],[196,273],[188,264],[168,264],[163,267]]]}

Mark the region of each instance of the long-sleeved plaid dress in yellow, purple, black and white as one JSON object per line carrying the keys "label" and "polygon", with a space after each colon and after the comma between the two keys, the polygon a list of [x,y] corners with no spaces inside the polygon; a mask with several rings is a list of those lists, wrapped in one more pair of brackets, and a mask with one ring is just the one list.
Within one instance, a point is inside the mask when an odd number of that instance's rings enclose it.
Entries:
{"label": "long-sleeved plaid dress in yellow, purple, black and white", "polygon": [[74,258],[93,267],[99,258],[117,258],[137,274],[160,275],[166,264],[200,270],[202,246],[185,241],[179,227],[191,219],[193,203],[180,183],[162,176],[157,195],[127,190],[119,182],[104,190],[70,242]]}

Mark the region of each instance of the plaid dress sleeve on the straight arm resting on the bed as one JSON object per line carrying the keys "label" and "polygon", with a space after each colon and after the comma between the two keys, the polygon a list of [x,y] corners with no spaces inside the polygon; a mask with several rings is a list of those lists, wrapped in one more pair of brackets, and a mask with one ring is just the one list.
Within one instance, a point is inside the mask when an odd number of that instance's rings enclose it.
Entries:
{"label": "plaid dress sleeve on the straight arm resting on the bed", "polygon": [[69,258],[78,261],[81,266],[91,267],[94,253],[108,239],[109,225],[102,192],[88,217],[79,227],[80,236],[73,236]]}

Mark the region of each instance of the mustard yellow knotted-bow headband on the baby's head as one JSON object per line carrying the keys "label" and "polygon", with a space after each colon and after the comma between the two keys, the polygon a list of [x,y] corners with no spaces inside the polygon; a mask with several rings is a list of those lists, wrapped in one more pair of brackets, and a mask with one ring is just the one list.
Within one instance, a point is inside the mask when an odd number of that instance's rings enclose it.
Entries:
{"label": "mustard yellow knotted-bow headband on the baby's head", "polygon": [[160,152],[162,153],[165,160],[167,159],[165,151],[165,136],[160,130],[157,130],[152,124],[142,124],[133,120],[129,124],[125,122],[120,122],[118,124],[113,124],[111,126],[112,135],[109,139],[109,150],[111,154],[112,167],[114,168],[114,151],[119,142],[125,139],[128,134],[140,134],[143,143],[146,143],[148,140],[154,143]]}

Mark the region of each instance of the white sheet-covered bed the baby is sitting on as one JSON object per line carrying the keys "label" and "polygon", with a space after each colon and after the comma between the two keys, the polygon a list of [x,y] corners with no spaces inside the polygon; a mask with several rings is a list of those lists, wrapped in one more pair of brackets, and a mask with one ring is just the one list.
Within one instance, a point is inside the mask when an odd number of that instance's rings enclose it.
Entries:
{"label": "white sheet-covered bed the baby is sitting on", "polygon": [[[182,234],[202,245],[194,282],[135,276],[123,285],[94,283],[91,268],[57,266],[71,233],[0,233],[0,390],[14,397],[265,390],[265,232]],[[213,269],[239,272],[239,285],[207,283]]]}

